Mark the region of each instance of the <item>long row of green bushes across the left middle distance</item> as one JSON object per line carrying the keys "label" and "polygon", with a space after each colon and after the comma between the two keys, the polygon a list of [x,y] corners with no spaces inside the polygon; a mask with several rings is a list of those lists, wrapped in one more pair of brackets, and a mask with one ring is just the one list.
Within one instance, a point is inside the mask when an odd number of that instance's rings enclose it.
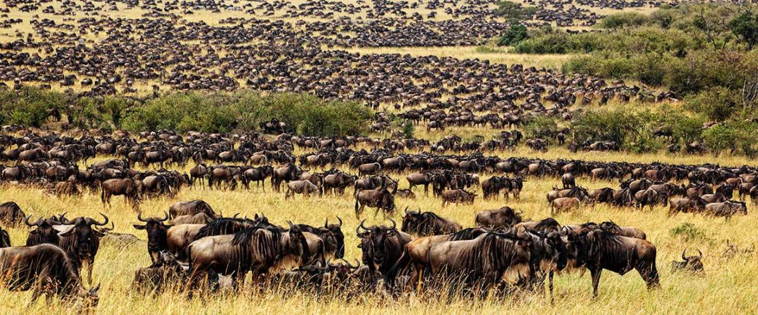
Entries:
{"label": "long row of green bushes across the left middle distance", "polygon": [[360,103],[327,101],[312,94],[193,91],[141,102],[124,96],[74,97],[29,87],[0,89],[2,125],[39,127],[51,110],[63,113],[78,128],[226,132],[259,130],[263,122],[278,119],[289,132],[318,136],[366,134],[373,117],[371,109]]}

